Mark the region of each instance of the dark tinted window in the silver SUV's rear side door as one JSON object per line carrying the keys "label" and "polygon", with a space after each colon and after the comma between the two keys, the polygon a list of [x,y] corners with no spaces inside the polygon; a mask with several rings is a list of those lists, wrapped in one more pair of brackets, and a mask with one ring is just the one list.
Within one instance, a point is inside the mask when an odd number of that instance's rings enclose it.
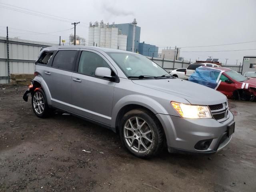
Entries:
{"label": "dark tinted window in the silver SUV's rear side door", "polygon": [[77,53],[77,50],[58,51],[54,56],[52,66],[64,70],[74,71]]}

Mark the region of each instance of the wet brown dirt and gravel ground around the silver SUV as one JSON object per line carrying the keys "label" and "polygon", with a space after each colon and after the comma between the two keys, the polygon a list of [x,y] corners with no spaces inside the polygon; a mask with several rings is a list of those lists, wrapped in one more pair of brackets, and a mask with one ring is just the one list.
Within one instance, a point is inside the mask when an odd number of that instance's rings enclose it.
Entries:
{"label": "wet brown dirt and gravel ground around the silver SUV", "polygon": [[0,191],[256,192],[256,102],[229,101],[236,130],[224,150],[144,160],[90,122],[36,117],[26,89],[0,85]]}

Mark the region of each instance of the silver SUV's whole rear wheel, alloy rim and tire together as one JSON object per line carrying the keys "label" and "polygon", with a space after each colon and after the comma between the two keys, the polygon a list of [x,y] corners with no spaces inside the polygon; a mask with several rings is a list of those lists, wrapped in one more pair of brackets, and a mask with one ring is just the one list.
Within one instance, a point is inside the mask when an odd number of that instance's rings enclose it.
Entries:
{"label": "silver SUV's whole rear wheel, alloy rim and tire together", "polygon": [[32,93],[32,109],[36,116],[40,118],[44,118],[48,115],[49,108],[46,96],[44,91],[40,88],[36,88]]}

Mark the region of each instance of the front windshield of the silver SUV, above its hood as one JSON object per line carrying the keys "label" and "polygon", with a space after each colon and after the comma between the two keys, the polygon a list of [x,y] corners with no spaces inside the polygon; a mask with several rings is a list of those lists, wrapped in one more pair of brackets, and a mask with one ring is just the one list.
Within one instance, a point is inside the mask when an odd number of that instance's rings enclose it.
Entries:
{"label": "front windshield of the silver SUV, above its hood", "polygon": [[128,78],[144,78],[144,76],[149,78],[159,76],[170,77],[170,74],[166,70],[140,54],[126,52],[107,52],[107,54],[116,62],[116,64],[121,68]]}

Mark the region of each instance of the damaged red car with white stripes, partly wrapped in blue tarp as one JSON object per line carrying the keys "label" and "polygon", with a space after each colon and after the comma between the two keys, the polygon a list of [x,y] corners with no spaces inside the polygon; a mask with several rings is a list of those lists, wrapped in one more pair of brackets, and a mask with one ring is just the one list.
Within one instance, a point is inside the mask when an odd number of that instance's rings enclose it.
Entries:
{"label": "damaged red car with white stripes, partly wrapped in blue tarp", "polygon": [[227,98],[256,99],[256,79],[246,78],[229,68],[199,67],[189,80],[214,88],[225,94]]}

